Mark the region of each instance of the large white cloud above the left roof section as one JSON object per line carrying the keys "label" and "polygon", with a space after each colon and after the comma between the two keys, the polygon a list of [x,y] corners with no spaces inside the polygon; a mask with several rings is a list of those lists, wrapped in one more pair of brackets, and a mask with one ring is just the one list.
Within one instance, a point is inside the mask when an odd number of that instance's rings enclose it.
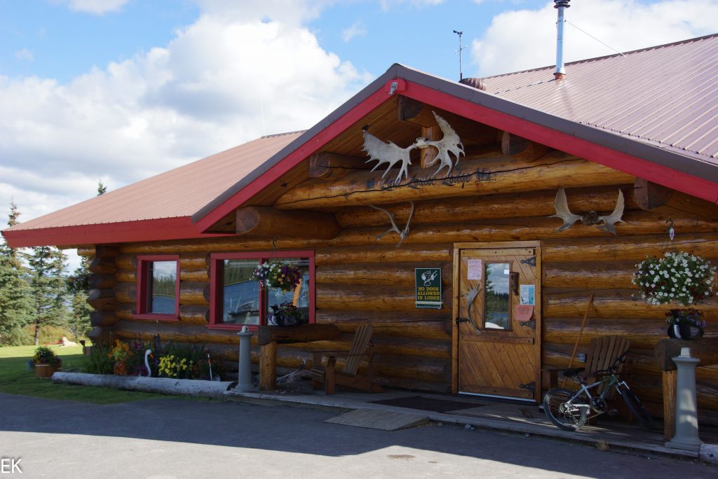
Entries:
{"label": "large white cloud above the left roof section", "polygon": [[[274,12],[208,10],[164,47],[66,84],[0,75],[0,213],[27,221],[266,133],[309,128],[373,78]],[[279,16],[286,11],[280,12]]]}

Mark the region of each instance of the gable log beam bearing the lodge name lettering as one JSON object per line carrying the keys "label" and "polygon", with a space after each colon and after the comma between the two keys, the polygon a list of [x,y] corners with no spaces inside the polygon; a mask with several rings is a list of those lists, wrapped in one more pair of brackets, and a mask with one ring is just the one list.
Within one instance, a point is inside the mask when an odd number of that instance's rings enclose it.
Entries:
{"label": "gable log beam bearing the lodge name lettering", "polygon": [[[536,161],[498,156],[492,160],[462,160],[447,178],[434,178],[432,169],[409,169],[409,178],[396,183],[381,179],[376,171],[358,171],[327,184],[309,179],[277,199],[279,209],[345,207],[359,204],[397,203],[449,196],[516,193],[544,189],[626,184],[634,177],[605,166],[550,151]],[[378,194],[380,193],[381,194]]]}

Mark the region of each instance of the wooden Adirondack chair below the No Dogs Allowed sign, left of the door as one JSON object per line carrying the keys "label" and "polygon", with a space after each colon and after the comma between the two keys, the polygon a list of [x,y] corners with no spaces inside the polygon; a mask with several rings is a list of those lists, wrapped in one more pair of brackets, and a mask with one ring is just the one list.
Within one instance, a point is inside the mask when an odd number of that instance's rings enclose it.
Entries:
{"label": "wooden Adirondack chair below the No Dogs Allowed sign, left of the door", "polygon": [[[349,351],[312,351],[312,369],[307,374],[312,377],[314,389],[319,389],[320,384],[324,383],[326,394],[334,394],[336,384],[366,392],[382,392],[381,386],[374,383],[373,346],[370,342],[373,331],[374,326],[370,324],[359,326]],[[322,358],[325,357],[326,365],[322,364]],[[336,367],[337,358],[346,358],[341,371]],[[363,359],[368,362],[368,371],[362,376],[357,371]]]}

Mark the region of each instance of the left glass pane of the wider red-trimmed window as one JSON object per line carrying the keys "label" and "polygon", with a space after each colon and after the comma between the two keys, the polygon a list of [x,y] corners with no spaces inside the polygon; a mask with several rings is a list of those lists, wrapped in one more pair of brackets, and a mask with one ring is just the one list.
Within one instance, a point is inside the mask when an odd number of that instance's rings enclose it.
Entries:
{"label": "left glass pane of the wider red-trimmed window", "polygon": [[222,322],[259,324],[259,282],[252,277],[258,260],[224,260]]}

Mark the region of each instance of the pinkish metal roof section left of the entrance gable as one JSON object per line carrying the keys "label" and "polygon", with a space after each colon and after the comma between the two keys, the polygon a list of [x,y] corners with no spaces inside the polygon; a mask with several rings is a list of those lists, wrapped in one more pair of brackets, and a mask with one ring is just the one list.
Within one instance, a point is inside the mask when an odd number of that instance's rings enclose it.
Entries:
{"label": "pinkish metal roof section left of the entrance gable", "polygon": [[190,217],[302,132],[258,138],[71,207],[18,224],[29,229]]}

